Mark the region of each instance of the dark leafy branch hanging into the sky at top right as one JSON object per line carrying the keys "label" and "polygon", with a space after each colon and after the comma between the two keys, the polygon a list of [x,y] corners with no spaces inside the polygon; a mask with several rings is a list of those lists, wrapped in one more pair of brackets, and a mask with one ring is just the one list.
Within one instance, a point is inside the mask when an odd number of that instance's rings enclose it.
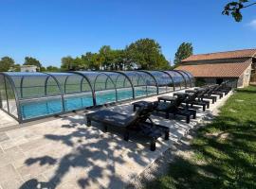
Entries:
{"label": "dark leafy branch hanging into the sky at top right", "polygon": [[243,19],[241,9],[246,9],[254,5],[256,5],[256,2],[249,3],[248,0],[232,1],[224,7],[222,14],[228,16],[231,14],[236,22],[241,22]]}

